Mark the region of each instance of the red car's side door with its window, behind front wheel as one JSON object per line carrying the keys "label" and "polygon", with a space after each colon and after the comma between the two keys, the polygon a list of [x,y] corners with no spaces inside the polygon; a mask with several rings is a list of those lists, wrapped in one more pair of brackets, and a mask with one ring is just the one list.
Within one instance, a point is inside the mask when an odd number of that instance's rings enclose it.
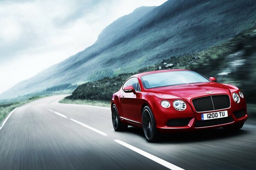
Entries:
{"label": "red car's side door with its window, behind front wheel", "polygon": [[127,119],[134,120],[136,122],[140,121],[140,112],[139,107],[137,105],[137,98],[140,95],[140,85],[138,83],[138,79],[136,77],[131,77],[128,79],[123,87],[131,85],[134,87],[136,94],[134,93],[125,93],[124,91],[121,94],[121,105],[122,105],[122,111],[124,113],[124,117]]}

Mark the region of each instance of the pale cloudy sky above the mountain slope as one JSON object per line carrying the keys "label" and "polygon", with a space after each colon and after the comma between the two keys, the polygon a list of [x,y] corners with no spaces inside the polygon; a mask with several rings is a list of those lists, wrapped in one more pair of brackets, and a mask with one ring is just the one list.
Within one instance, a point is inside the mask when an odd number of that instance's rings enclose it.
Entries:
{"label": "pale cloudy sky above the mountain slope", "polygon": [[114,20],[166,0],[0,0],[0,94],[92,45]]}

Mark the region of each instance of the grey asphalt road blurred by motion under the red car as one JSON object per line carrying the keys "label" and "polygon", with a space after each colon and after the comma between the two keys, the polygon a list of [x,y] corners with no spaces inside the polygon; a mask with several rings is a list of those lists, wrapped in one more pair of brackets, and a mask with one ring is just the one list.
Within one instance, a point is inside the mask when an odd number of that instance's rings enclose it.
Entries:
{"label": "grey asphalt road blurred by motion under the red car", "polygon": [[110,108],[57,103],[63,97],[12,113],[0,130],[0,170],[256,169],[255,122],[236,133],[218,128],[148,143],[141,129],[115,132]]}

